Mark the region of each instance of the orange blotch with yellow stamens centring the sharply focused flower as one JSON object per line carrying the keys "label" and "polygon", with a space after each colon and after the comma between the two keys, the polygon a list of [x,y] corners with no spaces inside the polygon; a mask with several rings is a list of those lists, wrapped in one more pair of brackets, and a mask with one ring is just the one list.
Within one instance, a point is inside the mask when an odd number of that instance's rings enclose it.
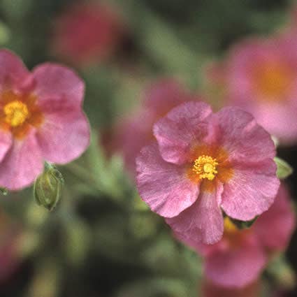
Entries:
{"label": "orange blotch with yellow stamens centring the sharply focused flower", "polygon": [[222,147],[201,145],[193,147],[189,156],[187,177],[201,184],[201,189],[214,191],[217,182],[226,182],[233,175],[228,154]]}

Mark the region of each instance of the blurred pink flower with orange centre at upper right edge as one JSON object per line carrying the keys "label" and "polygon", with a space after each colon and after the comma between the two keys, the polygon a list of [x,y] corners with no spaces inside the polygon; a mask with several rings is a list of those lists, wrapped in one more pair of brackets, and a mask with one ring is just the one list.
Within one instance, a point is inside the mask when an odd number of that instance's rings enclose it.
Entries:
{"label": "blurred pink flower with orange centre at upper right edge", "polygon": [[[224,82],[226,103],[252,113],[281,143],[296,142],[296,34],[243,41],[221,66],[217,76]],[[217,85],[217,77],[214,82]]]}

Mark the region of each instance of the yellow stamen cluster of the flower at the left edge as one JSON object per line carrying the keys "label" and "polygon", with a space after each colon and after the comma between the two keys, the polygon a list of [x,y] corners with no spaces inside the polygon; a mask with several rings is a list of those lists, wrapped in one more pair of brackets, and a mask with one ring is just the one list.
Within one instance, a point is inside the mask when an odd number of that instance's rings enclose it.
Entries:
{"label": "yellow stamen cluster of the flower at the left edge", "polygon": [[5,121],[12,127],[20,126],[29,117],[29,110],[25,103],[15,100],[7,103],[3,108]]}

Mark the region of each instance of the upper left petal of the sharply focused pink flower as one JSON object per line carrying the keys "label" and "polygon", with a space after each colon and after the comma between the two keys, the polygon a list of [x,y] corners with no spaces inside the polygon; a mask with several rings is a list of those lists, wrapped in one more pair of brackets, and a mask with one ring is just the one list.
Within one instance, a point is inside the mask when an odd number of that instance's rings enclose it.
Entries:
{"label": "upper left petal of the sharply focused pink flower", "polygon": [[191,101],[173,108],[154,124],[162,158],[175,164],[184,163],[191,145],[205,136],[207,124],[203,120],[211,113],[208,104]]}

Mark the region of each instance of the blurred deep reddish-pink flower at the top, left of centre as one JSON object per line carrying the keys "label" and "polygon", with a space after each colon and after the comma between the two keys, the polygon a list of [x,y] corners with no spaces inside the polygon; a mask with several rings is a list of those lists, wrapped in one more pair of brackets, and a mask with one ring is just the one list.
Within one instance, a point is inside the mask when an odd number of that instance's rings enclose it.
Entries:
{"label": "blurred deep reddish-pink flower at the top, left of centre", "polygon": [[53,48],[73,64],[90,64],[108,59],[126,31],[114,8],[99,3],[80,3],[59,17]]}

